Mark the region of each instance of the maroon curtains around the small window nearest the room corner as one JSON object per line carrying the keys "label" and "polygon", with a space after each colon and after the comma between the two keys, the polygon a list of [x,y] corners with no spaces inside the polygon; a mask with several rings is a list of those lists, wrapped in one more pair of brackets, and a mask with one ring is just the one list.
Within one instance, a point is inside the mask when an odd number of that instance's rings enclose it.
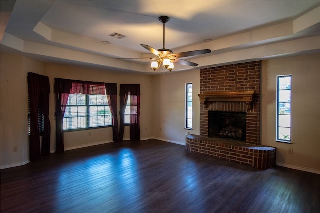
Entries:
{"label": "maroon curtains around the small window nearest the room corner", "polygon": [[140,84],[120,85],[120,138],[124,134],[124,112],[128,100],[130,104],[130,140],[140,140]]}

